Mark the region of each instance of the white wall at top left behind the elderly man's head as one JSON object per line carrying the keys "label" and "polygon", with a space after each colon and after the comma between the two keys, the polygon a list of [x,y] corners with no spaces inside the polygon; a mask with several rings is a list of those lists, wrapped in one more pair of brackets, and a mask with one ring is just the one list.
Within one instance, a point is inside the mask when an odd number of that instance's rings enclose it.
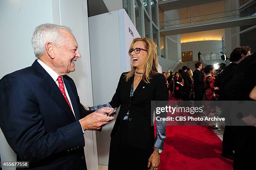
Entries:
{"label": "white wall at top left behind the elderly man's head", "polygon": [[51,0],[0,1],[0,79],[31,66],[36,59],[31,36],[41,23],[52,23]]}

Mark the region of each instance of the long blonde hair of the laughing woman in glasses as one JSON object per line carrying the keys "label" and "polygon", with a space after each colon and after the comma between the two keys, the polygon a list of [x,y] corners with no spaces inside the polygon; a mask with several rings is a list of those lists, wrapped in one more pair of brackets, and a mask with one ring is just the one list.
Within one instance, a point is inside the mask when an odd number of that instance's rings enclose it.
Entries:
{"label": "long blonde hair of the laughing woman in glasses", "polygon": [[[157,46],[154,43],[154,41],[152,41],[149,38],[146,38],[146,37],[134,38],[131,43],[130,49],[133,48],[133,44],[137,41],[143,41],[145,44],[145,48],[148,51],[148,56],[146,58],[145,66],[143,69],[142,80],[146,83],[150,83],[150,79],[152,79],[153,75],[158,73],[158,71],[157,71],[158,58],[157,58],[157,49],[156,49]],[[129,53],[129,55],[130,55],[130,53]],[[136,71],[136,68],[133,67],[131,69],[131,71],[129,71],[128,74],[125,74],[125,81],[128,81],[133,76],[135,71]]]}

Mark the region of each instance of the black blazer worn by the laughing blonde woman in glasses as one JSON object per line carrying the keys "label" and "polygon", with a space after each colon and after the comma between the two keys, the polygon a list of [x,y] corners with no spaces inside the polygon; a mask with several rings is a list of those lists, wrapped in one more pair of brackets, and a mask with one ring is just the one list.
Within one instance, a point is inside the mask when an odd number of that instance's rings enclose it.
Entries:
{"label": "black blazer worn by the laughing blonde woman in glasses", "polygon": [[149,84],[141,80],[133,93],[133,97],[130,98],[134,75],[126,82],[125,74],[127,73],[121,74],[118,87],[110,101],[112,107],[120,106],[111,138],[118,137],[123,118],[130,109],[128,142],[134,148],[149,149],[154,147],[154,126],[151,126],[151,101],[167,100],[166,79],[163,74],[156,74],[150,79]]}

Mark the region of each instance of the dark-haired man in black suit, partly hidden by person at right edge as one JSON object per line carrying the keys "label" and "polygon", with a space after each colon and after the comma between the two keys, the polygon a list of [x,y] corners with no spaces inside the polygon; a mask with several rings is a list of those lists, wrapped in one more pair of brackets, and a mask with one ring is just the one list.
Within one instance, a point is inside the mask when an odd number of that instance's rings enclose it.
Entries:
{"label": "dark-haired man in black suit, partly hidden by person at right edge", "polygon": [[[221,91],[219,96],[220,100],[222,101],[228,100],[225,94],[225,86],[235,76],[234,70],[236,66],[250,54],[251,54],[251,48],[247,46],[237,47],[230,54],[230,61],[232,63],[226,66],[225,69],[221,72],[221,79],[220,79]],[[233,99],[231,98],[230,100],[233,100]],[[235,136],[236,136],[235,128],[236,127],[228,126],[228,124],[231,124],[231,122],[230,122],[230,115],[226,107],[228,106],[226,105],[222,106],[222,113],[224,114],[225,123],[226,123],[225,129],[223,132],[222,155],[224,157],[227,157],[233,160],[234,159],[233,150],[235,150]]]}

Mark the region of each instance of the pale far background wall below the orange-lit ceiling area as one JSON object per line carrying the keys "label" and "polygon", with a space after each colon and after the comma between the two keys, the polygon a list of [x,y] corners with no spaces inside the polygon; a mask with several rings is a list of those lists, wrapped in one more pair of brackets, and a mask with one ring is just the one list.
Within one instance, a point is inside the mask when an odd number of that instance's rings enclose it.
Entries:
{"label": "pale far background wall below the orange-lit ceiling area", "polygon": [[193,51],[193,61],[198,60],[197,53],[200,51],[202,54],[207,53],[220,53],[222,51],[222,41],[211,40],[211,41],[195,41],[189,43],[181,43],[181,50]]}

